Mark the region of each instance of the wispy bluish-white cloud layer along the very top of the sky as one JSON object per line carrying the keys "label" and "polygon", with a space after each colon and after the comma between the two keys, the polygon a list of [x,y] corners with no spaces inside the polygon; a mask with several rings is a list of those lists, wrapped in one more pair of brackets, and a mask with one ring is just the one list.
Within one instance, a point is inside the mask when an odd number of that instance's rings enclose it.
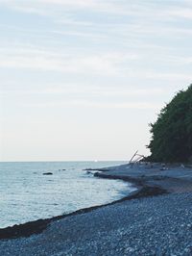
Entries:
{"label": "wispy bluish-white cloud layer along the very top of the sky", "polygon": [[[178,17],[192,17],[192,9],[176,9],[171,4],[156,4],[147,1],[101,1],[101,0],[2,0],[5,6],[17,12],[50,15],[55,25],[63,25],[60,29],[46,30],[42,34],[68,35],[74,37],[99,38],[117,41],[142,40],[153,37],[189,37],[191,28],[177,26],[173,21]],[[84,10],[86,14],[83,15]],[[100,21],[98,15],[87,15],[88,12],[107,12]],[[109,13],[113,13],[113,18]],[[125,14],[125,16],[124,16]],[[124,17],[123,17],[124,16]],[[115,17],[115,18],[114,18]],[[69,29],[70,27],[70,29]],[[84,30],[84,27],[89,29]],[[32,34],[36,32],[30,31]]]}

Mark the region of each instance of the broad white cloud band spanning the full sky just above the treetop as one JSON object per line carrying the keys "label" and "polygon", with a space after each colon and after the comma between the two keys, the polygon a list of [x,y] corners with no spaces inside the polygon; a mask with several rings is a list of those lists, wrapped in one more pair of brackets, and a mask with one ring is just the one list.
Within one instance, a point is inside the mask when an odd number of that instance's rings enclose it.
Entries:
{"label": "broad white cloud band spanning the full sky just above the treetop", "polygon": [[[85,74],[100,75],[100,77],[124,77],[127,79],[154,79],[164,81],[188,81],[191,82],[191,74],[185,72],[163,72],[156,69],[149,69],[147,66],[142,69],[132,67],[137,62],[147,62],[147,57],[133,52],[105,52],[105,53],[68,53],[49,52],[36,48],[0,50],[0,66],[14,69],[33,69],[37,71],[53,71],[63,74]],[[150,57],[150,55],[149,55]],[[161,58],[161,56],[159,56]],[[171,59],[173,58],[173,59]],[[161,58],[162,59],[162,58]],[[159,60],[161,60],[159,59]],[[170,61],[170,60],[171,61]],[[159,62],[156,59],[156,62]],[[180,58],[167,57],[167,62],[180,63]],[[184,64],[191,64],[191,58],[184,58]],[[161,60],[162,61],[162,60]]]}

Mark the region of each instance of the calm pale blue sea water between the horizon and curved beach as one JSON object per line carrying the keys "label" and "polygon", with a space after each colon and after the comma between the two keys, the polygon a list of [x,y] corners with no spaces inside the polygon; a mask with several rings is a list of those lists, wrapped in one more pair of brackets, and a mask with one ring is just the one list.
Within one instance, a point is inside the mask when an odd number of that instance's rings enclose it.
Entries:
{"label": "calm pale blue sea water between the horizon and curved beach", "polygon": [[[0,228],[122,198],[134,190],[131,184],[84,170],[121,164],[125,162],[0,163]],[[53,175],[43,175],[49,171]]]}

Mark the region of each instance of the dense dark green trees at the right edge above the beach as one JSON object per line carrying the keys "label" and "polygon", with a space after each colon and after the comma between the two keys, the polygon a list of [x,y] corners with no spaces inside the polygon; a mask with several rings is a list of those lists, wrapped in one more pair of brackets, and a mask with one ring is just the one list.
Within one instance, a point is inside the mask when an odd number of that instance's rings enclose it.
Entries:
{"label": "dense dark green trees at the right edge above the beach", "polygon": [[187,162],[192,156],[192,85],[180,90],[150,126],[151,161]]}

